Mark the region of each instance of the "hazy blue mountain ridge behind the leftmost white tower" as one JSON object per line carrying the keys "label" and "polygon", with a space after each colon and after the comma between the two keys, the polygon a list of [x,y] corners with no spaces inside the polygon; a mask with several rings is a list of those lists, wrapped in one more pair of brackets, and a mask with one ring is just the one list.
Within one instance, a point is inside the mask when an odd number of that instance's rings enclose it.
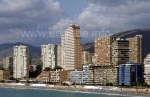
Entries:
{"label": "hazy blue mountain ridge behind the leftmost white tower", "polygon": [[13,56],[13,46],[25,45],[29,46],[30,54],[33,59],[39,58],[41,56],[41,48],[35,47],[32,45],[28,45],[22,42],[17,43],[5,43],[0,45],[0,60],[2,60],[6,56]]}

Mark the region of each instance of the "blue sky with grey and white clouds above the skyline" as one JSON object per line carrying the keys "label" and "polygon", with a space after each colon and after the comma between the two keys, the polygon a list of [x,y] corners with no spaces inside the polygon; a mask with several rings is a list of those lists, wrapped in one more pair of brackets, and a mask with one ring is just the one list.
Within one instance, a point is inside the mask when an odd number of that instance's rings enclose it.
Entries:
{"label": "blue sky with grey and white clouds above the skyline", "polygon": [[150,0],[0,0],[0,44],[59,44],[70,24],[82,43],[149,28]]}

